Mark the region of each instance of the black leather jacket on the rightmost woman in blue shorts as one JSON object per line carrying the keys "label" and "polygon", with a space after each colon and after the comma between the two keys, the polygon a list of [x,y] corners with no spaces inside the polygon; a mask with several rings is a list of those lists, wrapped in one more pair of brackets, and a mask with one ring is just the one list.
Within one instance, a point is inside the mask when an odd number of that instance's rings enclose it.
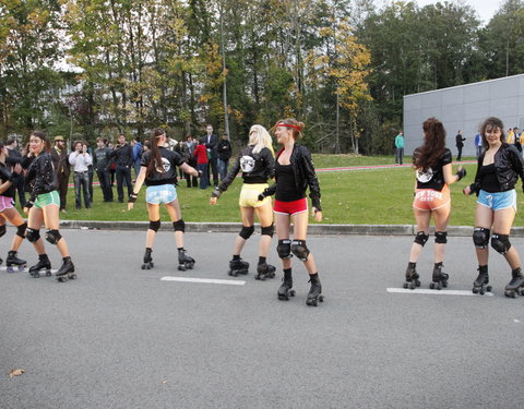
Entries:
{"label": "black leather jacket on the rightmost woman in blue shorts", "polygon": [[[478,192],[480,192],[480,185],[483,182],[479,170],[483,166],[484,156],[485,153],[478,158],[475,182],[469,185],[472,193],[475,192],[477,196]],[[524,181],[524,161],[519,151],[513,146],[503,143],[495,154],[495,172],[502,192],[515,189],[519,177]]]}

